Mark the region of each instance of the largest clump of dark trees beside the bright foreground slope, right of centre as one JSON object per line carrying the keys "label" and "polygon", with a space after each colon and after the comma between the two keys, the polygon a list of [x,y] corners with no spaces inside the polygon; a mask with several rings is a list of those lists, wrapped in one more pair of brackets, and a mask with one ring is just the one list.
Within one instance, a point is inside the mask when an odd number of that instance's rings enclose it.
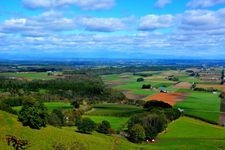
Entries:
{"label": "largest clump of dark trees beside the bright foreground slope, right of centre", "polygon": [[144,108],[148,112],[135,115],[128,121],[128,134],[132,142],[139,143],[145,139],[154,139],[170,121],[181,116],[179,110],[160,101],[149,101]]}

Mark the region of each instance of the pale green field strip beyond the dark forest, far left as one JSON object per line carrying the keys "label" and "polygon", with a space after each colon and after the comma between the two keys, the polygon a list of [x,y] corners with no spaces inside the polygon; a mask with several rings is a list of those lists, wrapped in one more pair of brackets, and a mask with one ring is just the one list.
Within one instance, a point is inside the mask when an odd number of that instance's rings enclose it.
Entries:
{"label": "pale green field strip beyond the dark forest, far left", "polygon": [[[54,75],[60,74],[60,72],[55,72]],[[48,75],[47,72],[18,72],[18,73],[0,73],[0,76],[4,77],[20,77],[30,80],[51,80],[55,79],[54,75]]]}

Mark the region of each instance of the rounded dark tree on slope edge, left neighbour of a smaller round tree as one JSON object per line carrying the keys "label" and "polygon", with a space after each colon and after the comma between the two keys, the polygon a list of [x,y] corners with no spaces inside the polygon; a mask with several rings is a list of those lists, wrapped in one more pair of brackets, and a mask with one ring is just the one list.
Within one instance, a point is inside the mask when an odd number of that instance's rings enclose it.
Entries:
{"label": "rounded dark tree on slope edge, left neighbour of a smaller round tree", "polygon": [[96,124],[90,118],[82,118],[79,123],[77,123],[77,129],[81,133],[91,133],[96,129]]}

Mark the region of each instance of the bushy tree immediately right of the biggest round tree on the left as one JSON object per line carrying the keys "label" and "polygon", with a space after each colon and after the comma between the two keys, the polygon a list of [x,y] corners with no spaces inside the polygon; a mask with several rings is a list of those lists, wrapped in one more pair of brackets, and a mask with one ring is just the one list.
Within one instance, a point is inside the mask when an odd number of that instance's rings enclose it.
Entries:
{"label": "bushy tree immediately right of the biggest round tree on the left", "polygon": [[53,126],[63,126],[65,124],[65,116],[59,109],[54,109],[48,116],[48,123]]}

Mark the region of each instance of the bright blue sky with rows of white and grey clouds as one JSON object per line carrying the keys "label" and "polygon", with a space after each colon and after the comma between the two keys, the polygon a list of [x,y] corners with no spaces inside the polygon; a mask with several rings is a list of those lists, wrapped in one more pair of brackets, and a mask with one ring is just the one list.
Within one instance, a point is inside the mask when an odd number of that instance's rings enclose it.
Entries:
{"label": "bright blue sky with rows of white and grey clouds", "polygon": [[224,59],[225,0],[0,1],[0,59]]}

